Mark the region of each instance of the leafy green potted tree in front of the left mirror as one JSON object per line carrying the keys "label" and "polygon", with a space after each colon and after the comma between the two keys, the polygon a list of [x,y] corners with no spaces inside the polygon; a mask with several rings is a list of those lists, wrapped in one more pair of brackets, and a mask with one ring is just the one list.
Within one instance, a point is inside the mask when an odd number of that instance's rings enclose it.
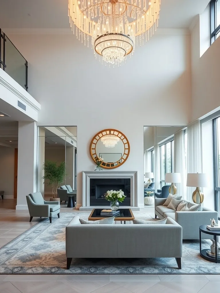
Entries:
{"label": "leafy green potted tree in front of the left mirror", "polygon": [[[44,184],[52,187],[53,197],[50,198],[50,201],[60,201],[60,198],[57,198],[57,188],[63,182],[66,175],[66,164],[61,162],[60,165],[57,165],[57,161],[46,160],[43,163]],[[47,181],[45,181],[47,180]]]}

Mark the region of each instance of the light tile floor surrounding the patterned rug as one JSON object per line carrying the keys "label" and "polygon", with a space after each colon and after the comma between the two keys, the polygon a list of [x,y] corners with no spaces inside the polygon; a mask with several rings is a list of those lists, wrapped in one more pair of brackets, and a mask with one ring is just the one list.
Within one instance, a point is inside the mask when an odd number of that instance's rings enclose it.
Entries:
{"label": "light tile floor surrounding the patterned rug", "polygon": [[[0,200],[0,247],[35,225]],[[79,212],[61,207],[61,212]],[[220,293],[220,275],[0,275],[0,293]]]}

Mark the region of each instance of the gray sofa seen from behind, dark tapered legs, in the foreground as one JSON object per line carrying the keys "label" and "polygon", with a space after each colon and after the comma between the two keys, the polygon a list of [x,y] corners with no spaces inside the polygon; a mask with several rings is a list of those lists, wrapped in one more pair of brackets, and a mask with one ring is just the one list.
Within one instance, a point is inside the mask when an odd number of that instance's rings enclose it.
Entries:
{"label": "gray sofa seen from behind, dark tapered legs, in the foreground", "polygon": [[182,227],[166,224],[80,224],[75,216],[66,227],[67,269],[72,258],[176,258],[181,268]]}

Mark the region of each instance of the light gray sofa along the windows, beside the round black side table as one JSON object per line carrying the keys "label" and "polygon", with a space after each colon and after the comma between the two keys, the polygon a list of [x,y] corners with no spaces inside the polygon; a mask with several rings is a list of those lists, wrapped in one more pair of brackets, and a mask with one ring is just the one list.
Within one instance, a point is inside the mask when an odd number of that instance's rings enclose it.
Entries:
{"label": "light gray sofa along the windows, beside the round black side table", "polygon": [[[170,217],[174,219],[180,226],[182,226],[182,239],[199,239],[199,226],[210,224],[210,219],[215,219],[218,223],[218,213],[202,208],[201,212],[177,212],[174,209],[168,209],[163,206],[166,198],[155,198],[155,218],[158,216],[160,219]],[[196,205],[194,202],[188,202],[188,207]],[[208,234],[201,234],[203,239],[211,239]]]}

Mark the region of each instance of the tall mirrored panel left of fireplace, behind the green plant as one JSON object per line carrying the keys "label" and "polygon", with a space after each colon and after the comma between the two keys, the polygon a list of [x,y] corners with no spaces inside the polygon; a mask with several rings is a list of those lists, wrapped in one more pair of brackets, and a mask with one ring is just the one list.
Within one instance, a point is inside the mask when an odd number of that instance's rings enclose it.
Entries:
{"label": "tall mirrored panel left of fireplace, behind the green plant", "polygon": [[[44,180],[45,162],[53,163],[60,169],[64,169],[60,186],[70,185],[71,189],[77,189],[77,127],[45,126],[38,127],[38,154],[37,154],[37,190],[45,198],[53,197],[52,186],[48,179]],[[61,172],[62,173],[62,172]],[[45,184],[44,184],[45,181]],[[59,187],[60,187],[59,186]]]}

